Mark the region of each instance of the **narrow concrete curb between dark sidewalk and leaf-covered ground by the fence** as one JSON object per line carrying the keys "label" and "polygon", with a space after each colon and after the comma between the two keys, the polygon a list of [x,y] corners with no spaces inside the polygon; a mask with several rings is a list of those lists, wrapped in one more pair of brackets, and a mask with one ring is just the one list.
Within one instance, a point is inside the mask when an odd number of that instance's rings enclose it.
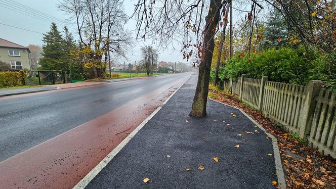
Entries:
{"label": "narrow concrete curb between dark sidewalk and leaf-covered ground by the fence", "polygon": [[217,102],[217,103],[223,104],[225,106],[229,106],[229,107],[232,107],[232,108],[235,108],[235,109],[239,110],[242,114],[244,114],[244,116],[246,116],[249,120],[251,120],[254,124],[256,124],[262,131],[264,131],[270,138],[272,138],[274,160],[275,160],[275,170],[276,170],[276,175],[278,177],[278,185],[280,186],[281,189],[285,189],[286,188],[286,180],[285,180],[283,169],[282,169],[281,157],[280,157],[279,147],[278,147],[278,140],[276,139],[276,137],[274,137],[272,134],[270,134],[264,127],[262,127],[257,121],[255,121],[254,119],[249,117],[249,115],[246,114],[240,108],[230,106],[228,104],[216,101],[216,100],[211,99],[211,98],[209,98],[209,99],[214,101],[214,102]]}

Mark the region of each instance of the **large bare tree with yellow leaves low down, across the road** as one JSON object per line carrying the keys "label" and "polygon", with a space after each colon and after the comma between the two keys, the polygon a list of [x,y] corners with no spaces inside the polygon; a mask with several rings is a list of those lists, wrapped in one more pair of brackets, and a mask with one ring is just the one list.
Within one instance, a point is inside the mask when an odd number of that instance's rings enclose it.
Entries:
{"label": "large bare tree with yellow leaves low down, across the road", "polygon": [[[108,52],[125,56],[131,45],[130,33],[124,31],[127,15],[121,0],[63,0],[60,10],[71,16],[76,23],[83,48],[89,48],[95,76],[105,73]],[[103,60],[103,61],[102,61]]]}

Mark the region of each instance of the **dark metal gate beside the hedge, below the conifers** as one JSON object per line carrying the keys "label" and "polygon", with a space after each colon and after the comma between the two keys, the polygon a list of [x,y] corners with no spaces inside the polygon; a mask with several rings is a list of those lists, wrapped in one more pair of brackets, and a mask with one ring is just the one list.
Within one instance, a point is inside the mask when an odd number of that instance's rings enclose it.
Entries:
{"label": "dark metal gate beside the hedge, below the conifers", "polygon": [[65,83],[63,70],[26,70],[26,84],[60,84]]}

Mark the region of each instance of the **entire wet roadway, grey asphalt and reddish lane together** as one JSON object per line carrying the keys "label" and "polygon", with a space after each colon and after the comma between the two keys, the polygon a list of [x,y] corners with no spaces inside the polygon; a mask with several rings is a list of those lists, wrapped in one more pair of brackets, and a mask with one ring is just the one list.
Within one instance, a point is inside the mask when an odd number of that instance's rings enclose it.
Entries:
{"label": "entire wet roadway, grey asphalt and reddish lane together", "polygon": [[74,186],[190,75],[0,98],[0,185]]}

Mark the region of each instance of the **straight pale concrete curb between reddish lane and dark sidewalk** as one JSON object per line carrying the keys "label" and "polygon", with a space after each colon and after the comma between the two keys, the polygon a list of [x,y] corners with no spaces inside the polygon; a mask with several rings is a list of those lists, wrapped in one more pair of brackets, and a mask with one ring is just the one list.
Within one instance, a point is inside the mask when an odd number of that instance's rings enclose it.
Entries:
{"label": "straight pale concrete curb between reddish lane and dark sidewalk", "polygon": [[101,162],[99,162],[85,177],[83,177],[73,189],[82,189],[85,188],[91,180],[93,180],[98,173],[121,151],[121,149],[126,146],[129,141],[142,129],[146,123],[151,120],[154,115],[165,105],[175,93],[190,79],[191,74],[173,93],[170,95],[161,106],[159,106],[154,112],[152,112],[143,122],[140,123],[127,137],[125,137],[117,147],[115,147]]}

